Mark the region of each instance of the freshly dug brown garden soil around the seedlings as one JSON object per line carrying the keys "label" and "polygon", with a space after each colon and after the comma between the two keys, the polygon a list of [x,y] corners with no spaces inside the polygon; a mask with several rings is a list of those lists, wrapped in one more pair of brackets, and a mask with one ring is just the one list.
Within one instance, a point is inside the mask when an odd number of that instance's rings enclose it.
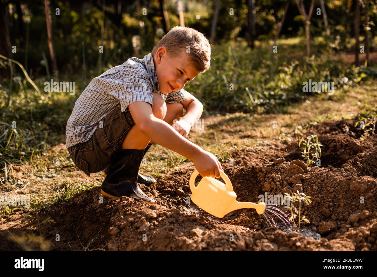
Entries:
{"label": "freshly dug brown garden soil around the seedlings", "polygon": [[[51,216],[57,223],[43,225],[41,231],[52,240],[52,250],[375,251],[377,135],[361,140],[354,123],[325,121],[308,130],[305,136],[316,134],[323,144],[320,167],[307,168],[300,161],[299,138],[287,145],[236,150],[234,165],[222,164],[238,201],[258,202],[266,192],[293,189],[311,196],[313,203],[302,207],[310,223],[302,224],[301,233],[268,227],[253,209],[217,218],[187,203],[195,169],[190,162],[151,188],[141,185],[158,205],[129,197],[105,198],[100,204],[97,187],[77,194],[56,213],[45,210],[41,217]],[[4,232],[0,238],[3,241]],[[7,242],[4,247],[16,246]]]}

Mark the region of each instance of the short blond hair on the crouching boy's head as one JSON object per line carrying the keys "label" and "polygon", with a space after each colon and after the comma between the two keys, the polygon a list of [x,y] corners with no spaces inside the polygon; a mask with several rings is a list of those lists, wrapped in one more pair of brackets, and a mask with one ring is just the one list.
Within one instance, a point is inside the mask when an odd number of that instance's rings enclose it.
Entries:
{"label": "short blond hair on the crouching boy's head", "polygon": [[170,29],[157,45],[153,47],[153,57],[161,46],[166,47],[169,57],[172,58],[181,57],[184,52],[190,54],[189,61],[199,73],[203,73],[210,67],[210,43],[201,32],[193,28],[175,26]]}

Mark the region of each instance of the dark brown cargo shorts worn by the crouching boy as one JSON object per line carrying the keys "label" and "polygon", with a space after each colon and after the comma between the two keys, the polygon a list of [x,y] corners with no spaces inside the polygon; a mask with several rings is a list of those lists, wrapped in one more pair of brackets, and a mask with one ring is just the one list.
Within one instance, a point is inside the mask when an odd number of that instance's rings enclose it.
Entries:
{"label": "dark brown cargo shorts worn by the crouching boy", "polygon": [[129,108],[121,112],[120,104],[101,121],[103,128],[98,123],[97,130],[89,141],[67,148],[72,161],[87,176],[90,176],[90,172],[100,172],[110,165],[111,155],[122,147],[124,138],[135,124]]}

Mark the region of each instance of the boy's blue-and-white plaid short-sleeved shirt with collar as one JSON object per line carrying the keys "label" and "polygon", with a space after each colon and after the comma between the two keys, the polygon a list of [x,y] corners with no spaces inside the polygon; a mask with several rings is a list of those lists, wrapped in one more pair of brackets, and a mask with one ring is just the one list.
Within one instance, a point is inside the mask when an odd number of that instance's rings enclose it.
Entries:
{"label": "boy's blue-and-white plaid short-sleeved shirt with collar", "polygon": [[94,78],[77,98],[67,121],[66,148],[89,141],[98,122],[119,103],[122,112],[136,101],[152,106],[152,92],[162,95],[166,103],[181,103],[185,99],[184,89],[160,92],[152,53],[142,60],[129,58]]}

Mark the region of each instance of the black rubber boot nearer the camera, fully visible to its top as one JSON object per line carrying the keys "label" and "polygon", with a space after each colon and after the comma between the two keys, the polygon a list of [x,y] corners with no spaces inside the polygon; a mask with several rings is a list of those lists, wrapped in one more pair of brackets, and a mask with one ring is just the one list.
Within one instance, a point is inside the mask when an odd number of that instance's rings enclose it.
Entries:
{"label": "black rubber boot nearer the camera, fully visible to its top", "polygon": [[109,174],[101,185],[101,194],[105,197],[120,199],[122,196],[132,197],[156,204],[157,201],[147,196],[137,183],[138,171],[143,149],[117,149],[110,162]]}

